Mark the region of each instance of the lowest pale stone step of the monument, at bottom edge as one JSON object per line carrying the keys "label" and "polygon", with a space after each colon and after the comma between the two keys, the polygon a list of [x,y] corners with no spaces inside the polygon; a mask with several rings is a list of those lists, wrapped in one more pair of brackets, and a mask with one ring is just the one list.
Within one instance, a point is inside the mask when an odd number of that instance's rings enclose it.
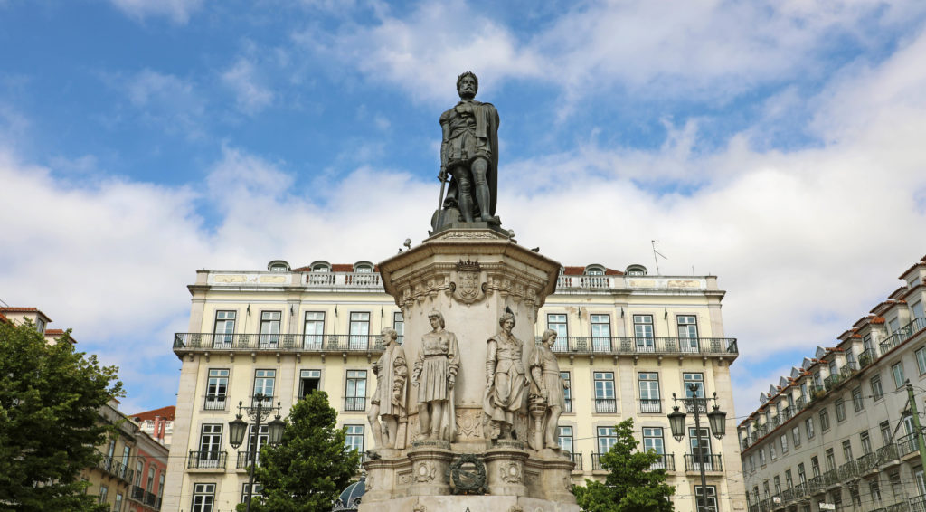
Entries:
{"label": "lowest pale stone step of the monument, at bottom edge", "polygon": [[579,512],[575,504],[526,496],[407,496],[376,503],[362,502],[359,512]]}

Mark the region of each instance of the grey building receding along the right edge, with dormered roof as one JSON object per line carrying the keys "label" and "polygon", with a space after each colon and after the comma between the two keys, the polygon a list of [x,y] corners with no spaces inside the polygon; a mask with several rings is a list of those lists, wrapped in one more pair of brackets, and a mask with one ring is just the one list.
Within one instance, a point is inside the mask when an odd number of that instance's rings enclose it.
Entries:
{"label": "grey building receding along the right edge, with dormered roof", "polygon": [[[738,427],[750,512],[926,511],[907,386],[926,396],[926,257]],[[831,508],[834,507],[834,508]]]}

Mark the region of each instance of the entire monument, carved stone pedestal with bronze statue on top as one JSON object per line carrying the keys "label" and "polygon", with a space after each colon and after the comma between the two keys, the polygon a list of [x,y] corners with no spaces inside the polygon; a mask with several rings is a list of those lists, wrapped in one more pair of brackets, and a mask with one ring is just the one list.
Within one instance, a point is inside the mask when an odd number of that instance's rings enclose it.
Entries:
{"label": "entire monument, carved stone pedestal with bronze statue on top", "polygon": [[560,265],[500,228],[498,114],[473,100],[477,88],[474,74],[460,75],[460,102],[441,115],[442,193],[429,238],[379,264],[405,343],[384,331],[373,368],[370,423],[381,433],[364,463],[362,512],[579,510],[574,465],[557,446],[555,336],[534,343]]}

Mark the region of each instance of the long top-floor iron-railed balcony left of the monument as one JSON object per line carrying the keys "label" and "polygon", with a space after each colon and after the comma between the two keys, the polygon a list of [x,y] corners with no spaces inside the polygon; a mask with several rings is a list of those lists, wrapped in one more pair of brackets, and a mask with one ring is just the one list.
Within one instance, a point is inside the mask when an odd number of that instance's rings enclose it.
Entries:
{"label": "long top-floor iron-railed balcony left of the monument", "polygon": [[221,334],[177,332],[174,353],[189,352],[309,352],[363,354],[382,352],[379,334]]}

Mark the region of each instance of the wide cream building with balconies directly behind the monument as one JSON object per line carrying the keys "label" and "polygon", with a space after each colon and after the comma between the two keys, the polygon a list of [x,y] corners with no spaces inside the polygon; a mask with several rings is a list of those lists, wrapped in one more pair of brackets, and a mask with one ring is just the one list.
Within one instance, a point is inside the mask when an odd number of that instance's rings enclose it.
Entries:
{"label": "wide cream building with balconies directly behind the monument", "polygon": [[[404,331],[372,263],[290,268],[276,260],[266,271],[198,270],[189,291],[189,330],[173,341],[182,361],[173,452],[186,456],[170,458],[166,510],[216,512],[244,501],[247,454],[252,443],[266,443],[266,432],[253,432],[235,451],[228,423],[256,393],[288,410],[324,390],[347,443],[360,452],[371,447],[367,413],[376,382],[369,368],[382,352],[378,333],[394,327],[401,340]],[[738,349],[723,330],[724,294],[715,276],[654,276],[639,265],[562,268],[534,333],[558,333],[554,350],[570,384],[559,443],[576,463],[576,484],[605,475],[599,454],[615,443],[614,425],[634,418],[638,441],[661,454],[654,468],[666,469],[676,486],[676,510],[694,511],[695,496],[721,511],[745,509],[732,435],[730,364]],[[707,435],[700,447],[688,437],[674,441],[671,395],[684,396],[691,382],[703,384],[701,393],[718,393],[730,435]],[[694,434],[693,416],[688,420]]]}

